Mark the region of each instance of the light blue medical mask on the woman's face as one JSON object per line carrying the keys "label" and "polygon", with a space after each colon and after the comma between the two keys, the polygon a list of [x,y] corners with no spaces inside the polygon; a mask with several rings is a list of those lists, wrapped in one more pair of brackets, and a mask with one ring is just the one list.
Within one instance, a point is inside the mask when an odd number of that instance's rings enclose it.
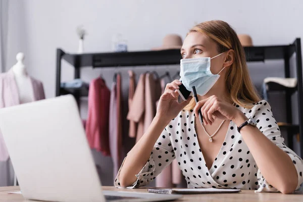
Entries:
{"label": "light blue medical mask on the woman's face", "polygon": [[192,91],[195,86],[197,94],[205,95],[217,82],[220,77],[218,74],[211,72],[211,60],[222,55],[223,53],[210,58],[191,58],[180,61],[180,80],[187,90]]}

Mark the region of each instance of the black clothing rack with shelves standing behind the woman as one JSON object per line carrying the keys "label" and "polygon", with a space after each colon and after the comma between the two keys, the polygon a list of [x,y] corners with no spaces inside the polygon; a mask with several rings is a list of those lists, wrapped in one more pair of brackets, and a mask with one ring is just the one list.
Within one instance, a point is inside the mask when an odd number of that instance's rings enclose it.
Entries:
{"label": "black clothing rack with shelves standing behind the woman", "polygon": [[[291,125],[280,126],[281,130],[287,131],[289,148],[293,149],[292,137],[299,134],[300,156],[303,157],[303,80],[302,80],[302,58],[301,41],[296,38],[293,43],[288,45],[271,46],[251,46],[244,47],[247,62],[265,62],[266,60],[284,60],[285,78],[290,77],[290,59],[294,56],[295,62],[292,63],[297,76],[297,103],[298,103],[298,125],[292,124],[291,94],[285,88],[274,88],[269,91],[285,91],[286,98],[286,122]],[[144,51],[126,53],[87,53],[69,54],[57,48],[56,64],[56,96],[63,94],[73,94],[79,103],[81,96],[87,96],[88,89],[61,88],[61,61],[65,60],[74,67],[74,78],[80,78],[82,67],[105,68],[105,67],[129,67],[146,65],[173,65],[180,64],[180,50],[170,49],[165,51]]]}

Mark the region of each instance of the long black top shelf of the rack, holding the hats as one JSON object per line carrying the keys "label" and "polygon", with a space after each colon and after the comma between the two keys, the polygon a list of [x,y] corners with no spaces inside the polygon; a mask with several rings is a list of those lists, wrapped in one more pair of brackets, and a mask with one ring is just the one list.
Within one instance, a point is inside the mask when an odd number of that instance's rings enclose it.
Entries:
{"label": "long black top shelf of the rack, holding the hats", "polygon": [[[284,59],[286,54],[292,54],[293,45],[251,46],[244,47],[246,61]],[[60,49],[61,50],[61,49]],[[126,53],[87,53],[69,54],[62,50],[62,58],[74,67],[127,67],[144,65],[174,65],[180,64],[180,49],[164,51],[143,51]]]}

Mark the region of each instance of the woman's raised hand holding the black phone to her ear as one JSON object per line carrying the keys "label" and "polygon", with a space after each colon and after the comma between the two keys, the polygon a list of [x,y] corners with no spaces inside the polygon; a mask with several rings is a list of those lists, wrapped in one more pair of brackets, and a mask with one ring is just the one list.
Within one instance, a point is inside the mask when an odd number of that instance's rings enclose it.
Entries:
{"label": "woman's raised hand holding the black phone to her ear", "polygon": [[179,93],[176,91],[176,89],[179,89],[179,85],[181,85],[179,80],[174,80],[166,85],[165,91],[161,95],[158,103],[156,117],[170,121],[174,119],[186,105],[189,104],[192,98],[191,96],[181,104],[177,102]]}

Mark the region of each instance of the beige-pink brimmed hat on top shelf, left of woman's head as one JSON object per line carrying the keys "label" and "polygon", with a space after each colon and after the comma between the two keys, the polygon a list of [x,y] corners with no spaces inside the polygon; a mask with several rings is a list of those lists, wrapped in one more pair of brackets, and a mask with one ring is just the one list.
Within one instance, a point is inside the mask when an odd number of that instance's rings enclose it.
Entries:
{"label": "beige-pink brimmed hat on top shelf, left of woman's head", "polygon": [[178,34],[168,34],[163,38],[162,46],[151,48],[153,51],[165,49],[180,49],[182,47],[182,38]]}

